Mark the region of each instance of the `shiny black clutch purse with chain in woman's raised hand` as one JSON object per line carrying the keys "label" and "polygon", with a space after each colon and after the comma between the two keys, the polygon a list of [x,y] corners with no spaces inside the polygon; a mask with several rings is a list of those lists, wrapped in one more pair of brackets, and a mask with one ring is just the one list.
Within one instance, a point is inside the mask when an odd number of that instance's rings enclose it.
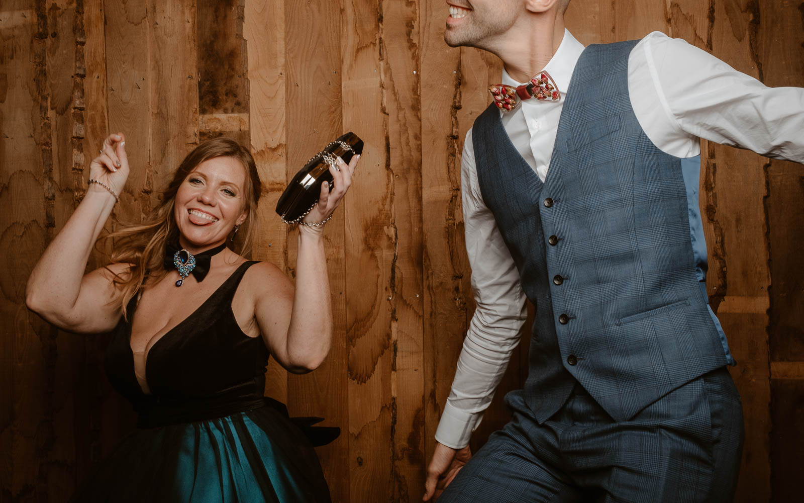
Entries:
{"label": "shiny black clutch purse with chain in woman's raised hand", "polygon": [[353,155],[363,152],[363,140],[351,131],[331,142],[324,150],[307,161],[293,179],[290,180],[285,192],[279,196],[277,214],[285,224],[297,224],[318,202],[321,194],[321,184],[330,184],[332,190],[332,173],[330,166],[337,162],[338,157],[344,163],[349,163]]}

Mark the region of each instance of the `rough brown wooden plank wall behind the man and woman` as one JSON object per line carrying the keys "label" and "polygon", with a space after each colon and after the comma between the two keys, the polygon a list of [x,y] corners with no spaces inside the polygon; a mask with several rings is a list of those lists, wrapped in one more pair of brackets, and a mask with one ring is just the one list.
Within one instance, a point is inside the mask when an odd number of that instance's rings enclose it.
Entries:
{"label": "rough brown wooden plank wall behind the man and woman", "polygon": [[[86,189],[108,131],[132,162],[115,216],[150,208],[204,138],[250,144],[268,188],[253,256],[294,274],[273,213],[289,176],[342,131],[366,141],[326,227],[336,340],[322,367],[269,367],[266,394],[342,428],[319,449],[335,501],[418,501],[474,303],[460,152],[500,64],[442,39],[433,0],[3,0],[0,6],[0,500],[64,501],[132,425],[103,377],[106,337],[24,307],[36,258]],[[804,4],[575,0],[583,43],[659,30],[768,85],[804,86]],[[737,501],[793,501],[804,464],[802,166],[704,142],[708,285],[739,365]],[[115,225],[109,223],[111,228]],[[90,266],[102,262],[93,256]],[[519,348],[473,439],[505,423]]]}

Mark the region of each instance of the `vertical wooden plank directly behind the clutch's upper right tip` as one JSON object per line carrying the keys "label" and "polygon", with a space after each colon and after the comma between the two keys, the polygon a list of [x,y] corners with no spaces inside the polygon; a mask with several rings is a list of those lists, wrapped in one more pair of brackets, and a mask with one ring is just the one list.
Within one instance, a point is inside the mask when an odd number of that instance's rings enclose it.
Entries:
{"label": "vertical wooden plank directly behind the clutch's upper right tip", "polygon": [[[398,299],[393,284],[397,180],[391,166],[388,128],[398,118],[393,96],[396,75],[384,47],[387,6],[383,2],[348,2],[343,10],[343,127],[354,129],[365,142],[359,171],[344,203],[352,500],[367,495],[390,497],[394,492],[392,345],[397,333],[392,326],[392,307]],[[404,78],[400,75],[403,82]],[[391,105],[385,100],[392,101]]]}

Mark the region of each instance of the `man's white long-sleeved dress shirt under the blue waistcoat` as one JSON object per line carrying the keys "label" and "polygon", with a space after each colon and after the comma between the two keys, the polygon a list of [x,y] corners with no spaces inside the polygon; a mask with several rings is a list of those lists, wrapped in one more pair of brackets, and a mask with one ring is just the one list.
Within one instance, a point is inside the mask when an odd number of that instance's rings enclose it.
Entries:
{"label": "man's white long-sleeved dress shirt under the blue waistcoat", "polygon": [[[564,31],[544,67],[566,92],[584,46]],[[503,84],[520,85],[503,70]],[[768,88],[682,39],[654,31],[628,60],[634,114],[659,149],[679,158],[700,154],[699,138],[804,163],[804,89]],[[566,94],[559,101],[523,101],[502,115],[519,154],[544,182]],[[519,344],[526,319],[525,294],[494,215],[483,202],[474,163],[472,130],[461,155],[466,253],[477,308],[466,332],[452,390],[436,439],[465,447]]]}

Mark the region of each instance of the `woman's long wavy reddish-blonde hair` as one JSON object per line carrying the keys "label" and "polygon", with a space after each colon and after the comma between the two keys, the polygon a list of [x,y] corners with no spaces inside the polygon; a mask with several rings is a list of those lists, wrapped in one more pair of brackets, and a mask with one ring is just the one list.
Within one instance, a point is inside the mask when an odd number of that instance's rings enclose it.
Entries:
{"label": "woman's long wavy reddish-blonde hair", "polygon": [[178,228],[174,217],[174,206],[178,188],[200,163],[215,157],[231,157],[243,164],[246,170],[244,194],[246,197],[244,210],[248,212],[236,244],[240,243],[240,254],[247,254],[252,247],[256,234],[256,205],[262,192],[260,175],[256,171],[256,163],[251,153],[238,142],[230,138],[213,138],[196,146],[184,158],[170,180],[161,202],[146,216],[141,224],[125,225],[105,239],[114,240],[111,262],[129,264],[129,274],[115,275],[113,283],[116,295],[112,303],[117,303],[127,318],[129,301],[143,286],[149,286],[162,279],[167,271],[163,267],[167,243],[178,241]]}

